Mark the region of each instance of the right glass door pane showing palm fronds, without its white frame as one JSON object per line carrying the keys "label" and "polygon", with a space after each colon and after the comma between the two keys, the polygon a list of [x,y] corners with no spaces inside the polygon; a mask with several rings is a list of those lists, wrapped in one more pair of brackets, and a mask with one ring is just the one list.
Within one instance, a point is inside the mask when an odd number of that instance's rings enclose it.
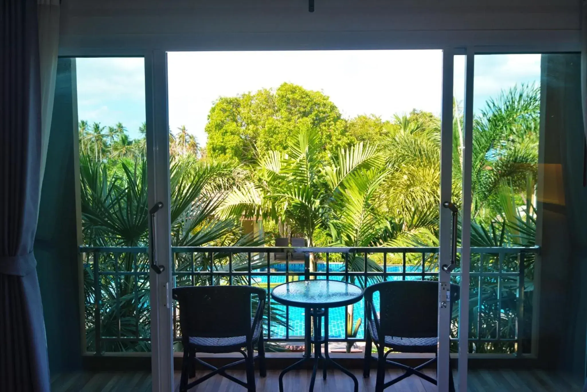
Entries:
{"label": "right glass door pane showing palm fronds, without its white frame", "polygon": [[531,351],[535,253],[519,247],[535,244],[541,55],[474,60],[469,349],[522,355]]}

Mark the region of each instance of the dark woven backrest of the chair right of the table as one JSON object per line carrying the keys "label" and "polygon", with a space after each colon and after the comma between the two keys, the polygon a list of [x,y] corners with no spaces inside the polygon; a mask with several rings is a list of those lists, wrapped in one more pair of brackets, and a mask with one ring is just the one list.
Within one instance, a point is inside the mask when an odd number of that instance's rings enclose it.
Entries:
{"label": "dark woven backrest of the chair right of the table", "polygon": [[[452,314],[459,287],[451,284],[450,291]],[[396,280],[377,283],[367,287],[365,299],[373,303],[375,292],[379,292],[379,324],[383,336],[438,336],[438,282]]]}

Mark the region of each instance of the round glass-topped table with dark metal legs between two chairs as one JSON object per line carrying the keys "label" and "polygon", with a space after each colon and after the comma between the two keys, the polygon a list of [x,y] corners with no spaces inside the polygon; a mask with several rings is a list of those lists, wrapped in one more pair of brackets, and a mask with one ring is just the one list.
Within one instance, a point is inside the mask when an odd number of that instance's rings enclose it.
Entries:
{"label": "round glass-topped table with dark metal legs between two chairs", "polygon": [[[271,298],[281,304],[302,307],[305,311],[305,340],[306,350],[303,359],[286,367],[279,374],[279,392],[284,392],[284,375],[290,370],[301,366],[302,363],[312,360],[311,347],[314,346],[314,366],[310,380],[310,392],[314,390],[318,363],[322,360],[322,378],[326,380],[328,364],[338,368],[355,383],[355,392],[359,391],[359,381],[354,374],[340,366],[330,358],[328,352],[328,309],[331,307],[347,306],[363,298],[363,290],[355,284],[340,282],[339,280],[297,280],[279,284],[271,292]],[[313,336],[311,319],[313,320]],[[322,336],[322,319],[324,319],[324,336]],[[324,355],[322,356],[322,344]]]}

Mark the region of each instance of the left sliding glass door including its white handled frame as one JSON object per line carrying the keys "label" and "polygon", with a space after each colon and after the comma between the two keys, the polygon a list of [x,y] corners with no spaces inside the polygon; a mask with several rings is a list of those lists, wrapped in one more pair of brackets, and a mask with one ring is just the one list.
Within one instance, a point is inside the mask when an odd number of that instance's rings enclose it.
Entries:
{"label": "left sliding glass door including its white handled frame", "polygon": [[173,383],[166,78],[165,52],[61,58],[56,92],[77,122],[83,351],[150,352],[160,391]]}

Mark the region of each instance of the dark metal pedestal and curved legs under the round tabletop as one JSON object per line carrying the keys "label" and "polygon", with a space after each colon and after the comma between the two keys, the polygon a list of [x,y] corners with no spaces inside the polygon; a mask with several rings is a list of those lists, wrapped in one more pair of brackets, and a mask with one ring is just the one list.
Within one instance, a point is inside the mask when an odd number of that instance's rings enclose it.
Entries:
{"label": "dark metal pedestal and curved legs under the round tabletop", "polygon": [[[313,318],[314,334],[312,337],[310,316]],[[322,337],[322,317],[324,317],[324,336]],[[353,379],[355,383],[355,392],[359,392],[359,381],[354,374],[346,370],[340,364],[336,363],[330,358],[328,353],[328,309],[309,309],[306,308],[306,352],[303,354],[303,359],[297,361],[291,366],[286,367],[281,374],[279,374],[279,392],[284,392],[284,375],[290,370],[301,366],[302,363],[312,360],[311,346],[314,345],[314,367],[312,370],[312,378],[310,380],[310,392],[314,390],[316,382],[316,371],[318,370],[318,363],[322,361],[322,378],[326,380],[326,370],[328,365],[338,368],[347,376]],[[324,356],[322,356],[322,344],[324,344]]]}

